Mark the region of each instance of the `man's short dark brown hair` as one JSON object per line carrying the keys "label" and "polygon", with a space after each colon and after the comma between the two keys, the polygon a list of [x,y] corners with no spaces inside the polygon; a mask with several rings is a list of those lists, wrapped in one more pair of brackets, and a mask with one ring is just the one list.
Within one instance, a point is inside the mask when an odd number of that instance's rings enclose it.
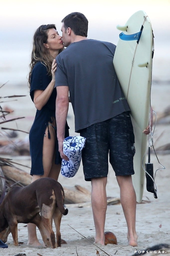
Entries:
{"label": "man's short dark brown hair", "polygon": [[74,12],[62,19],[65,29],[71,28],[76,36],[87,37],[88,20],[82,13]]}

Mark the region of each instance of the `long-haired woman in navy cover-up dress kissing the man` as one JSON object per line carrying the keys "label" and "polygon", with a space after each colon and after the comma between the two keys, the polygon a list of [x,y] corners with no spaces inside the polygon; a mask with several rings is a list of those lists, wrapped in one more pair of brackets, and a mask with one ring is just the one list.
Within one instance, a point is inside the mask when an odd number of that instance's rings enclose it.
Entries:
{"label": "long-haired woman in navy cover-up dress kissing the man", "polygon": [[[41,25],[33,37],[29,65],[30,96],[37,109],[29,133],[32,182],[42,177],[58,179],[61,162],[58,152],[55,120],[55,70],[56,56],[64,49],[62,37],[54,24]],[[69,136],[66,123],[65,137]],[[28,223],[28,243],[42,246],[38,241],[36,226]]]}

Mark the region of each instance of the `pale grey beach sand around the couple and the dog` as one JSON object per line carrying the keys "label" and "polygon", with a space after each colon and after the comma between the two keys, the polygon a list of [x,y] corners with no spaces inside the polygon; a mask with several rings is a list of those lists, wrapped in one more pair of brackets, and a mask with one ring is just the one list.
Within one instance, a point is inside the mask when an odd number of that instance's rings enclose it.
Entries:
{"label": "pale grey beach sand around the couple and the dog", "polygon": [[[10,91],[10,93],[9,93]],[[10,83],[1,88],[1,95],[13,95],[13,94],[25,94],[26,97],[18,98],[17,101],[1,103],[1,106],[8,106],[14,109],[14,112],[10,114],[9,118],[25,116],[25,119],[9,122],[4,127],[13,127],[20,130],[29,132],[31,124],[34,119],[35,108],[30,100],[27,86],[21,84],[11,85]],[[170,87],[168,84],[153,84],[151,91],[151,103],[153,109],[158,113],[162,112],[169,105]],[[70,126],[70,135],[74,136],[74,117],[72,108],[69,108],[68,124]],[[161,145],[168,143],[167,136],[169,134],[169,124],[157,124],[154,132],[154,146],[155,149]],[[76,134],[77,135],[77,134]],[[3,136],[1,131],[1,136]],[[2,137],[1,137],[2,139]],[[25,133],[18,133],[18,140],[28,140],[28,135]],[[12,158],[13,161],[31,165],[30,157],[25,156],[7,156]],[[96,255],[96,250],[102,255],[121,255],[130,256],[132,254],[137,255],[138,252],[144,248],[148,248],[157,244],[167,243],[170,244],[170,215],[169,215],[169,155],[157,154],[159,162],[166,167],[166,169],[157,170],[155,183],[157,187],[157,196],[155,199],[153,194],[146,190],[144,187],[143,200],[137,204],[136,210],[136,230],[138,234],[138,247],[131,247],[127,245],[127,227],[124,218],[121,204],[110,205],[107,207],[105,231],[112,231],[117,237],[118,245],[108,244],[107,246],[101,246],[100,249],[94,244],[95,229],[92,217],[91,207],[75,208],[67,205],[68,215],[62,217],[60,231],[62,238],[67,241],[67,244],[62,244],[61,248],[30,248],[26,245],[28,240],[28,233],[26,224],[18,224],[18,240],[23,243],[19,247],[13,245],[11,234],[8,236],[7,244],[8,249],[0,248],[0,256],[7,255],[78,255],[78,256],[92,256]],[[154,171],[160,168],[157,158],[154,154],[151,154],[151,162],[154,165]],[[20,167],[21,168],[21,167]],[[23,167],[29,173],[30,168]],[[59,182],[63,186],[71,186],[78,184],[89,190],[91,190],[90,182],[84,181],[82,165],[73,178],[65,178],[59,176]],[[119,188],[116,182],[114,172],[109,166],[108,182],[107,182],[107,196],[119,197]],[[71,226],[71,227],[70,227]],[[55,228],[53,229],[55,231]],[[76,230],[76,231],[75,231]],[[42,242],[39,230],[37,235]],[[85,238],[86,237],[86,238]],[[103,251],[102,251],[103,250]],[[105,252],[104,252],[105,251]],[[150,250],[149,255],[170,255],[170,250],[163,251],[162,249]],[[24,254],[25,253],[25,254]],[[144,254],[144,253],[142,253]]]}

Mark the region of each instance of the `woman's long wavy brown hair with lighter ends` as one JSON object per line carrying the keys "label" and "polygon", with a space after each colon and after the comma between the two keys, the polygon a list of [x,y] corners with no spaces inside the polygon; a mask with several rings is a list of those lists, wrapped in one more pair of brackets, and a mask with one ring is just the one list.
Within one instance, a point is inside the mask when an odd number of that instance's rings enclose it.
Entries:
{"label": "woman's long wavy brown hair with lighter ends", "polygon": [[[29,64],[30,72],[28,77],[28,86],[30,88],[30,79],[32,69],[38,61],[41,61],[47,68],[48,74],[51,74],[51,67],[53,62],[53,57],[50,55],[49,50],[44,46],[48,39],[48,30],[54,28],[56,30],[55,24],[41,25],[34,33],[33,36],[33,48],[31,52],[31,63]],[[60,53],[63,49],[59,49]]]}

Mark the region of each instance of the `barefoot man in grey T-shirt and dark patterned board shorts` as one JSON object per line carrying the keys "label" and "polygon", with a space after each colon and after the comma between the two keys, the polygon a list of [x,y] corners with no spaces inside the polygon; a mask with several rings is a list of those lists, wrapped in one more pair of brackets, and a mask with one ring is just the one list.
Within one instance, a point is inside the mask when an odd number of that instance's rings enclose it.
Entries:
{"label": "barefoot man in grey T-shirt and dark patterned board shorts", "polygon": [[[56,122],[59,152],[63,159],[68,95],[75,115],[75,131],[86,137],[82,151],[85,180],[91,181],[95,242],[104,245],[107,209],[106,183],[109,160],[120,187],[130,246],[137,246],[136,194],[132,185],[134,134],[129,106],[120,88],[113,57],[116,46],[87,38],[88,20],[71,13],[62,20],[62,40],[67,47],[57,58],[55,72]],[[149,127],[144,132],[147,134]]]}

